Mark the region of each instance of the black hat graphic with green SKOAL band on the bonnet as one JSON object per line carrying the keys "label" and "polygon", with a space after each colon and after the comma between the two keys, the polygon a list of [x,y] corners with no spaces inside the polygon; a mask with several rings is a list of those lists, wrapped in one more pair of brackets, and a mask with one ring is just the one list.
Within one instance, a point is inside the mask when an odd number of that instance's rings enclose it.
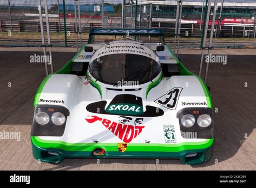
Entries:
{"label": "black hat graphic with green SKOAL band on the bonnet", "polygon": [[[155,106],[146,105],[143,112],[142,98],[135,95],[116,95],[107,105],[106,100],[91,103],[86,106],[86,110],[92,113],[107,115],[128,115],[137,117],[157,117],[163,115],[163,110]],[[106,109],[105,109],[106,107]]]}

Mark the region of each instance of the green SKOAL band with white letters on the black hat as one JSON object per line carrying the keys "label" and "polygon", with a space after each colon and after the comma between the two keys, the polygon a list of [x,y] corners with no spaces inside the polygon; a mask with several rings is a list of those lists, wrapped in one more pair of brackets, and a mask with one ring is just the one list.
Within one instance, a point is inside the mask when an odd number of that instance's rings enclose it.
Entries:
{"label": "green SKOAL band with white letters on the black hat", "polygon": [[142,106],[136,104],[111,104],[106,111],[110,113],[122,113],[123,115],[133,115],[143,113]]}

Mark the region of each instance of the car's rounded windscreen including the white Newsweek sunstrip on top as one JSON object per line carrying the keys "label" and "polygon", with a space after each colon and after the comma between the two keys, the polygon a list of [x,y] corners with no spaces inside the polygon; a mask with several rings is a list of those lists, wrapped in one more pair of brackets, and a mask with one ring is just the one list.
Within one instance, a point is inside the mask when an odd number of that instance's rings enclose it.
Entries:
{"label": "car's rounded windscreen including the white Newsweek sunstrip on top", "polygon": [[104,84],[136,81],[140,85],[153,80],[161,72],[156,53],[139,42],[108,43],[91,59],[91,76]]}

